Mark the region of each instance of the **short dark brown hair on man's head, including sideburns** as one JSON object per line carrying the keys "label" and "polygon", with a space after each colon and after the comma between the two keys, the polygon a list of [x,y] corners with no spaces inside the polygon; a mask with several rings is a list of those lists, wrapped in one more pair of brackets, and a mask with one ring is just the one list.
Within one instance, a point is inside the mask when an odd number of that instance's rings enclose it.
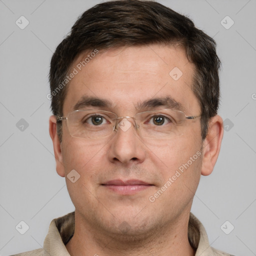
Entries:
{"label": "short dark brown hair on man's head, including sideburns", "polygon": [[[196,28],[188,17],[155,1],[110,0],[83,12],[52,55],[50,90],[56,90],[73,61],[84,51],[152,43],[178,44],[194,64],[192,90],[201,108],[201,136],[204,139],[208,121],[217,113],[219,101],[220,61],[216,43]],[[62,115],[66,90],[67,86],[51,97],[51,109],[55,115]],[[58,135],[61,139],[61,123]]]}

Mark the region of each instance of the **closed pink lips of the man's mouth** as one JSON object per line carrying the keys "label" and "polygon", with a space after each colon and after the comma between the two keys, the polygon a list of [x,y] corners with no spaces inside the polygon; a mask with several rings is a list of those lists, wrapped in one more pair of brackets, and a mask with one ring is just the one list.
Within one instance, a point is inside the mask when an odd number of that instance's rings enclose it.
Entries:
{"label": "closed pink lips of the man's mouth", "polygon": [[103,185],[106,189],[122,195],[135,194],[152,186],[152,184],[138,179],[130,179],[126,181],[121,179],[113,179],[101,185]]}

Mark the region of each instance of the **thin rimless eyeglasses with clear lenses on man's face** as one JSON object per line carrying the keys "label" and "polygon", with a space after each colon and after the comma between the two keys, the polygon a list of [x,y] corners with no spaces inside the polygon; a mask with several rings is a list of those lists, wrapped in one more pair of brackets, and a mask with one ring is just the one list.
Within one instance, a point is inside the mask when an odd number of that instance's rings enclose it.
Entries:
{"label": "thin rimless eyeglasses with clear lenses on man's face", "polygon": [[187,119],[195,119],[200,115],[187,116],[179,110],[161,109],[144,111],[135,116],[120,116],[115,113],[88,109],[69,112],[67,116],[57,115],[57,121],[66,120],[71,136],[102,139],[110,137],[121,128],[128,130],[133,124],[138,135],[145,138],[171,138],[183,133],[182,123]]}

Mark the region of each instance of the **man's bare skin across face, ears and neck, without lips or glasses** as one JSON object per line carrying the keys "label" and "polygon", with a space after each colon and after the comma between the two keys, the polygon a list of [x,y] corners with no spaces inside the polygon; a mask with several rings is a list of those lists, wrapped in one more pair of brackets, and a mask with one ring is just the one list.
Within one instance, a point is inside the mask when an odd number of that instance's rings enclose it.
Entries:
{"label": "man's bare skin across face, ears and neck, without lips or glasses", "polygon": [[[81,54],[73,67],[86,55]],[[176,81],[169,75],[173,67],[183,73]],[[134,116],[138,102],[170,95],[183,105],[186,115],[199,115],[199,102],[191,90],[193,71],[180,47],[146,45],[100,51],[71,79],[63,116],[82,95],[111,100],[113,105],[103,110],[118,116]],[[119,128],[107,139],[91,141],[72,137],[66,121],[62,124],[60,143],[56,118],[49,119],[56,170],[65,177],[75,206],[75,232],[66,244],[70,255],[194,255],[187,237],[189,212],[200,175],[211,173],[219,153],[220,116],[210,120],[203,141],[200,118],[184,121],[181,135],[164,140],[143,139],[132,125],[126,131]],[[200,150],[200,157],[154,202],[149,201]],[[72,169],[80,174],[74,183],[66,177]],[[120,195],[102,185],[112,179],[139,179],[152,185]]]}

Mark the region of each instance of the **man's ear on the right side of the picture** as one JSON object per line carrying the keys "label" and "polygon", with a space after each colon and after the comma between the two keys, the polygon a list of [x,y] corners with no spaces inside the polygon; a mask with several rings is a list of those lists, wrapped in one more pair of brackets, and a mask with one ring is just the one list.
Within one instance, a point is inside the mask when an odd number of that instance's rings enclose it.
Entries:
{"label": "man's ear on the right side of the picture", "polygon": [[203,141],[202,175],[209,175],[217,161],[223,137],[223,120],[219,115],[211,118]]}

